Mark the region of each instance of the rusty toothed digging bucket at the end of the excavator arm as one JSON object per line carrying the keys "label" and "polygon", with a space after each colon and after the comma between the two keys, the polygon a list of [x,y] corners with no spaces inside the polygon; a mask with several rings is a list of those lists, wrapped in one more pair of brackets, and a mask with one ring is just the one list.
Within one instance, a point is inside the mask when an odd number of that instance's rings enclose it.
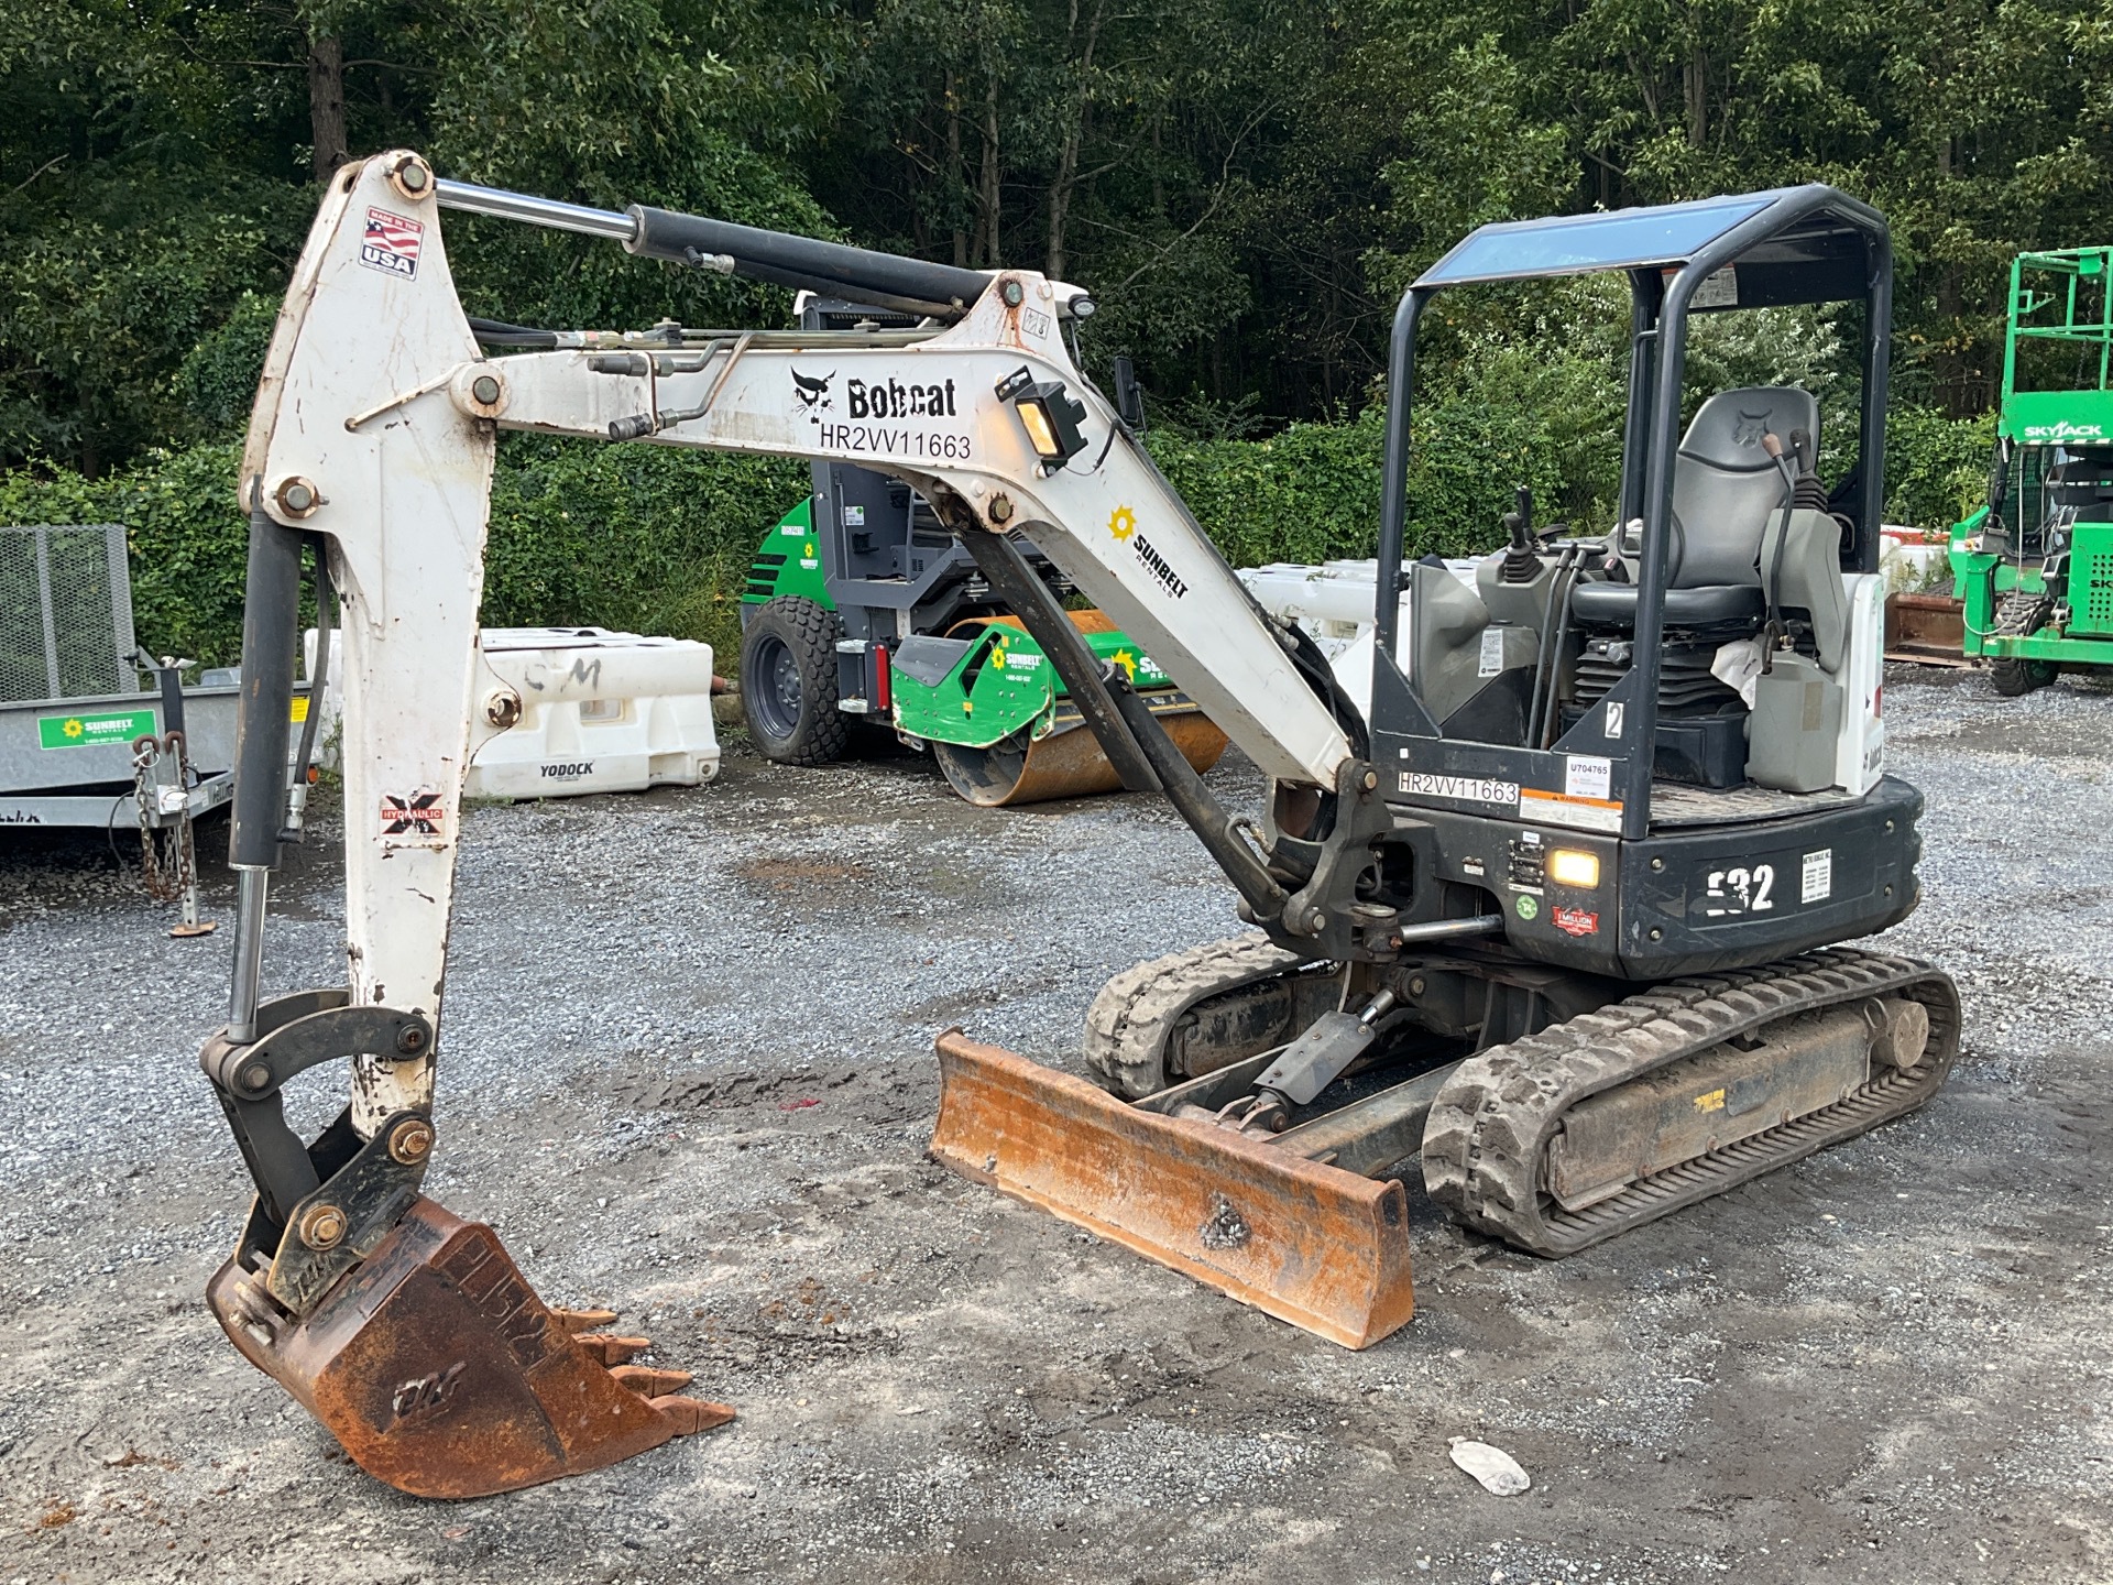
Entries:
{"label": "rusty toothed digging bucket at the end of the excavator arm", "polygon": [[547,1308],[490,1228],[425,1198],[304,1319],[228,1262],[207,1287],[228,1338],[412,1496],[513,1492],[733,1418],[676,1397],[685,1372],[625,1365],[644,1338],[587,1331],[606,1310]]}

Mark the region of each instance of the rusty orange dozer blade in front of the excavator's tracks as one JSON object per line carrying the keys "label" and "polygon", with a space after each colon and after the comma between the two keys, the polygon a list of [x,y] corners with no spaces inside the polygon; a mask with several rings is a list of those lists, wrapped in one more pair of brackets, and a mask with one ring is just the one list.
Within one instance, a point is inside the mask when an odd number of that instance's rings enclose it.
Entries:
{"label": "rusty orange dozer blade in front of the excavator's tracks", "polygon": [[949,1029],[934,1160],[1278,1321],[1365,1348],[1416,1312],[1399,1181],[1141,1112]]}

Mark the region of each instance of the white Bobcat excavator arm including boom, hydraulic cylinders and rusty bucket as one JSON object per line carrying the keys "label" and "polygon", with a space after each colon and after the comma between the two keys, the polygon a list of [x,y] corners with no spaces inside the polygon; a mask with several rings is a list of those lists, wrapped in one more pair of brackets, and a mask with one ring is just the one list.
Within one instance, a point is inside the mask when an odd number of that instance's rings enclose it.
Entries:
{"label": "white Bobcat excavator arm including boom, hydraulic cylinders and rusty bucket", "polygon": [[[913,332],[475,328],[442,209],[602,235],[636,254],[915,306]],[[611,213],[435,180],[416,154],[340,171],[266,357],[243,456],[251,511],[241,879],[228,1025],[203,1065],[258,1181],[211,1287],[230,1340],[374,1475],[471,1496],[592,1469],[731,1412],[680,1372],[623,1365],[613,1317],[547,1310],[488,1228],[418,1194],[463,773],[522,700],[486,668],[478,602],[497,431],[826,456],[904,480],[972,547],[1063,670],[1133,786],[1158,784],[1289,936],[1329,932],[1325,831],[1228,816],[1120,672],[1061,617],[1016,541],[1054,562],[1274,782],[1306,824],[1376,786],[1354,716],[1247,596],[1179,495],[1086,383],[1078,287],[970,273],[653,209]],[[513,351],[486,355],[484,344]],[[304,549],[342,623],[347,985],[262,997],[268,873],[292,835],[283,765]],[[328,657],[328,645],[319,657]],[[1306,659],[1308,664],[1302,664]],[[560,685],[562,687],[562,685]],[[1382,816],[1384,818],[1384,816]],[[298,803],[292,812],[298,824]],[[351,1105],[302,1143],[279,1088],[349,1061]],[[1399,1190],[1397,1190],[1399,1194]],[[609,1367],[615,1369],[609,1369]]]}

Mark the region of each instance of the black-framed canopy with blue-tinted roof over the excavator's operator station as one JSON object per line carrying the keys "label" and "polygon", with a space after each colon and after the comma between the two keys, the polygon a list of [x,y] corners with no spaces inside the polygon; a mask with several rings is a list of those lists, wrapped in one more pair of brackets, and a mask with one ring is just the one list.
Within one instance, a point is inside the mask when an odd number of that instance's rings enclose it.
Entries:
{"label": "black-framed canopy with blue-tinted roof over the excavator's operator station", "polygon": [[[1680,446],[1682,372],[1690,313],[1862,302],[1862,412],[1853,478],[1836,505],[1855,522],[1845,537],[1845,573],[1878,564],[1878,514],[1885,480],[1887,361],[1891,349],[1893,247],[1881,216],[1859,199],[1811,184],[1726,194],[1648,209],[1612,209],[1481,226],[1439,258],[1403,294],[1388,361],[1386,476],[1380,507],[1380,566],[1401,566],[1407,524],[1409,418],[1416,385],[1416,328],[1431,298],[1462,285],[1540,281],[1570,275],[1629,277],[1629,397],[1623,425],[1619,522],[1640,520],[1635,602],[1635,687],[1625,742],[1595,744],[1612,759],[1610,801],[1621,835],[1648,831],[1652,740],[1665,592],[1671,581],[1669,524],[1673,459]],[[1802,393],[1790,393],[1802,395]],[[1809,397],[1805,397],[1809,402]],[[1492,524],[1494,528],[1494,524]],[[1411,630],[1414,583],[1411,592]],[[1428,778],[1483,778],[1500,786],[1564,782],[1564,744],[1555,752],[1452,740],[1424,708],[1397,653],[1399,592],[1382,581],[1373,678],[1373,729],[1390,738],[1401,771]],[[1382,750],[1384,752],[1384,750]],[[1395,759],[1395,752],[1384,757]]]}

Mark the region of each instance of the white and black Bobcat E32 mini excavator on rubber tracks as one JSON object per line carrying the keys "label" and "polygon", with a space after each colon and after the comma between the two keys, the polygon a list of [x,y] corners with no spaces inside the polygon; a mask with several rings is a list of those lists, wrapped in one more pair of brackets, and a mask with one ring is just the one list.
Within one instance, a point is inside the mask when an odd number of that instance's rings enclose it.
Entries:
{"label": "white and black Bobcat E32 mini excavator on rubber tracks", "polygon": [[[906,330],[526,330],[463,315],[440,211],[917,317]],[[209,1302],[372,1475],[471,1496],[721,1424],[615,1317],[551,1310],[497,1236],[418,1192],[463,767],[522,700],[478,653],[499,429],[797,454],[923,497],[1063,674],[1133,788],[1175,803],[1259,934],[1118,976],[1105,1090],[940,1040],[932,1148],[1346,1344],[1409,1317],[1390,1169],[1475,1228],[1566,1253],[1923,1101],[1959,1000],[1927,964],[1828,951],[1914,907],[1921,797],[1881,773],[1885,222],[1830,188],[1488,226],[1395,328],[1380,566],[1401,566],[1416,321],[1466,281],[1623,271],[1635,351],[1621,518],[1526,509],[1469,590],[1380,594],[1371,721],[1274,623],[1084,380],[1092,304],[661,209],[583,209],[342,169],[258,389],[230,1019],[203,1065],[256,1179]],[[1712,397],[1680,440],[1690,309],[1862,300],[1859,509],[1824,509],[1800,391]],[[492,353],[501,355],[488,355]],[[1492,524],[1492,530],[1496,524]],[[264,1000],[289,812],[302,556],[342,621],[347,985]],[[1268,778],[1234,818],[1099,664],[1023,545],[1109,613]],[[317,655],[330,645],[317,647]],[[1750,691],[1720,657],[1758,672]],[[560,691],[592,689],[585,678]],[[351,1067],[302,1143],[281,1086]],[[1107,1093],[1107,1090],[1114,1090]]]}

